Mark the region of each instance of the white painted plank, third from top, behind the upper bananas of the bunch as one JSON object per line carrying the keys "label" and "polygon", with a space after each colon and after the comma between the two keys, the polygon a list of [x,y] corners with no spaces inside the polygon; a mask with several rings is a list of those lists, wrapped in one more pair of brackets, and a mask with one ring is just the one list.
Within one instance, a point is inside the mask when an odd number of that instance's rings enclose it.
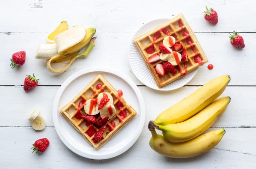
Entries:
{"label": "white painted plank, third from top, behind the upper bananas of the bunch", "polygon": [[[154,120],[158,114],[171,105],[182,100],[199,87],[185,86],[172,92],[159,92],[147,87],[139,87],[146,104],[146,119],[144,126]],[[0,126],[31,126],[27,120],[35,109],[41,109],[41,116],[47,126],[53,126],[52,105],[58,86],[38,86],[29,93],[23,91],[22,86],[0,87],[0,100],[3,105],[15,105],[14,108],[3,106],[7,112],[0,119]],[[13,95],[10,95],[12,93]],[[14,98],[15,94],[15,98]],[[123,97],[125,98],[124,93]],[[256,121],[256,87],[227,87],[221,96],[230,96],[231,102],[224,115],[213,125],[216,127],[254,126]],[[71,98],[70,98],[71,99]],[[133,105],[131,105],[133,106]]]}

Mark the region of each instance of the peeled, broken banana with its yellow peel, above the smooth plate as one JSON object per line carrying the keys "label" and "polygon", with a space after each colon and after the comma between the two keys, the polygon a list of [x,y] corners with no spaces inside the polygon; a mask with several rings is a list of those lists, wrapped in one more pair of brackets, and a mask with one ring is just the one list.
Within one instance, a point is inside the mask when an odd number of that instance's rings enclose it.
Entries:
{"label": "peeled, broken banana with its yellow peel, above the smooth plate", "polygon": [[[58,27],[46,38],[47,44],[38,47],[35,58],[47,60],[47,69],[55,74],[66,71],[73,61],[78,57],[88,56],[94,47],[96,37],[93,35],[96,29],[93,27],[84,29],[80,25],[69,28],[67,21],[62,21]],[[87,46],[81,54],[79,51]],[[56,70],[52,63],[69,63],[62,69]]]}

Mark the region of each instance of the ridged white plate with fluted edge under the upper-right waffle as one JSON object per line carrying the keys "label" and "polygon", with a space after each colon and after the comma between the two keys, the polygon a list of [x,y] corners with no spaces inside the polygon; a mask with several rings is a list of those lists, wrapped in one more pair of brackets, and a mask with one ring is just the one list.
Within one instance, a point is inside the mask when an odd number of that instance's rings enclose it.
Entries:
{"label": "ridged white plate with fluted edge under the upper-right waffle", "polygon": [[[144,24],[134,35],[133,39],[154,29],[160,24],[165,23],[169,19],[158,19],[151,21],[149,23]],[[149,88],[158,90],[158,91],[171,91],[174,89],[178,89],[185,84],[187,84],[197,73],[198,68],[192,72],[189,72],[184,77],[179,78],[178,80],[173,81],[172,83],[166,85],[163,88],[158,88],[157,84],[155,83],[154,77],[152,76],[151,72],[149,71],[148,67],[146,66],[145,62],[143,61],[140,53],[137,51],[137,48],[133,44],[133,41],[130,45],[130,53],[129,53],[129,62],[131,69],[134,75],[146,86]]]}

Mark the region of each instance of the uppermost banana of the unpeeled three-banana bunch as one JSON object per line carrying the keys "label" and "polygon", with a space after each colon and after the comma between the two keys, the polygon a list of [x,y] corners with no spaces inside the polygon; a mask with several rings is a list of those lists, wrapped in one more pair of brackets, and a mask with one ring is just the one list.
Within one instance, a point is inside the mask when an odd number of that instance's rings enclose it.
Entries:
{"label": "uppermost banana of the unpeeled three-banana bunch", "polygon": [[229,75],[214,78],[180,102],[163,111],[153,122],[166,125],[179,123],[190,118],[219,97],[226,89],[229,81]]}

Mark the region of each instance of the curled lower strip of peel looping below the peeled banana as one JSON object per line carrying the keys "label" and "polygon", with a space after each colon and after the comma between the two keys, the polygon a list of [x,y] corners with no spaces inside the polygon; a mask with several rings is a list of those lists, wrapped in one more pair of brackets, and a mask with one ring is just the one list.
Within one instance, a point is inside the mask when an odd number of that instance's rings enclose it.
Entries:
{"label": "curled lower strip of peel looping below the peeled banana", "polygon": [[[91,38],[88,47],[81,54],[77,54],[76,52],[73,52],[70,55],[66,55],[66,57],[63,57],[63,55],[58,55],[58,56],[51,57],[49,60],[47,60],[47,63],[46,63],[47,69],[50,72],[55,73],[55,74],[61,74],[61,73],[65,72],[78,57],[88,56],[91,49],[95,46],[95,40],[96,40],[96,37]],[[74,53],[76,53],[76,55]],[[73,55],[75,55],[75,56],[73,56]],[[56,70],[56,69],[52,68],[52,65],[51,65],[52,63],[54,63],[54,62],[63,62],[63,61],[67,61],[68,59],[70,59],[69,63],[64,68],[59,69],[59,70]]]}

